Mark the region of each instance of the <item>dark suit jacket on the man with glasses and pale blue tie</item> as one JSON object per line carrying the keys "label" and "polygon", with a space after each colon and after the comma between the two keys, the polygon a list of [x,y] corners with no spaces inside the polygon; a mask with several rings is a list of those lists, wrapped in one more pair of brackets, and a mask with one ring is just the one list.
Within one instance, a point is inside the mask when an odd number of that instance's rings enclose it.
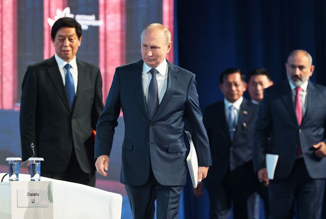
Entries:
{"label": "dark suit jacket on the man with glasses and pale blue tie", "polygon": [[203,116],[212,155],[212,166],[205,179],[205,186],[218,186],[227,171],[233,171],[251,161],[254,125],[258,105],[243,99],[233,141],[225,115],[224,101],[208,106]]}

